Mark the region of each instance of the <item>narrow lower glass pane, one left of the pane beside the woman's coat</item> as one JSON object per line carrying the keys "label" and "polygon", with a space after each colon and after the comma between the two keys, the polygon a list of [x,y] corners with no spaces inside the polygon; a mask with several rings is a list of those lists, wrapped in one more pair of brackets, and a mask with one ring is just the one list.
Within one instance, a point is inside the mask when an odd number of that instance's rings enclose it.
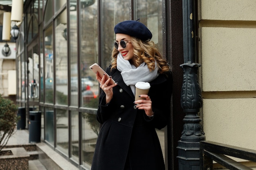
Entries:
{"label": "narrow lower glass pane, one left of the pane beside the woman's coat", "polygon": [[71,157],[77,163],[79,162],[79,114],[76,111],[71,112]]}

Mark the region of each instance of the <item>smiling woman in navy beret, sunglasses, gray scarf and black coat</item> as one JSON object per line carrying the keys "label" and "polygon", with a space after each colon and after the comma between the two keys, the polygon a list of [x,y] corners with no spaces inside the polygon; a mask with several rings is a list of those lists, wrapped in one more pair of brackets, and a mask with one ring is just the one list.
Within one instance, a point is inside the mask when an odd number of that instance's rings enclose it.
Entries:
{"label": "smiling woman in navy beret, sunglasses, gray scarf and black coat", "polygon": [[[112,64],[102,79],[97,120],[102,124],[92,170],[164,170],[164,159],[155,128],[170,119],[172,75],[148,28],[137,21],[115,26]],[[136,82],[149,82],[146,99],[135,100]],[[137,94],[138,95],[138,94]]]}

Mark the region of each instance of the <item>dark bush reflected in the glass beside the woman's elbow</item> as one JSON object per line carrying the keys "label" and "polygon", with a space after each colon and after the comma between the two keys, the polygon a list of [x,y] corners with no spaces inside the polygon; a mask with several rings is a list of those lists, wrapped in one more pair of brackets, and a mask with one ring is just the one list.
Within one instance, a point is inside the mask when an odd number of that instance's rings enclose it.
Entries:
{"label": "dark bush reflected in the glass beside the woman's elbow", "polygon": [[[98,104],[99,97],[91,99],[90,102],[86,103],[86,106],[90,108],[97,108]],[[82,116],[84,119],[86,119],[86,121],[92,128],[92,131],[96,133],[96,135],[99,135],[99,122],[96,119],[96,115],[90,113],[82,113]]]}

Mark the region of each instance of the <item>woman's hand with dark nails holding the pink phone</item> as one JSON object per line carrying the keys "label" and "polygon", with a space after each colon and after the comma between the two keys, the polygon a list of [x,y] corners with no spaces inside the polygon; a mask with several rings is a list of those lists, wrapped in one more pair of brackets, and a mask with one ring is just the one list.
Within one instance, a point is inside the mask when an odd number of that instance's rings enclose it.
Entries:
{"label": "woman's hand with dark nails holding the pink phone", "polygon": [[108,78],[107,75],[103,75],[102,78],[99,77],[99,74],[96,73],[96,79],[100,83],[100,88],[105,92],[106,94],[106,104],[110,102],[110,100],[113,97],[113,87],[117,86],[117,83],[112,84],[108,86],[108,84],[111,81],[111,76]]}

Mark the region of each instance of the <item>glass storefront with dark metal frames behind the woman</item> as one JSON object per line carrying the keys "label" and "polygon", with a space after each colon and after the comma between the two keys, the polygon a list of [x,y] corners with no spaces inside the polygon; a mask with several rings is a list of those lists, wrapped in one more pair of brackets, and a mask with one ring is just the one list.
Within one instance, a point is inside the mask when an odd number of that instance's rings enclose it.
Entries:
{"label": "glass storefront with dark metal frames behind the woman", "polygon": [[[131,18],[148,26],[163,53],[162,0],[34,0],[25,15],[29,31],[27,41],[18,43],[18,102],[34,102],[43,115],[42,139],[89,170],[100,129],[99,83],[89,67],[110,65],[114,26]],[[27,88],[34,83],[36,93]],[[164,133],[157,131],[163,152]]]}

